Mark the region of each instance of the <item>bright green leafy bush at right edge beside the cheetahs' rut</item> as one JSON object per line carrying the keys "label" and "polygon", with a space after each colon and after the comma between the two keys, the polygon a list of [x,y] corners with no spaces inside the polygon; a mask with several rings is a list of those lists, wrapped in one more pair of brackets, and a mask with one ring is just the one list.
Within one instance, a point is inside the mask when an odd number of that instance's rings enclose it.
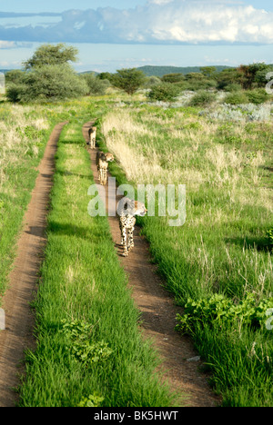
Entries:
{"label": "bright green leafy bush at right edge beside the cheetahs' rut", "polygon": [[273,308],[273,298],[256,303],[255,296],[248,293],[247,297],[238,302],[227,299],[224,295],[215,294],[211,298],[194,301],[187,300],[183,315],[177,314],[177,331],[192,333],[197,324],[213,325],[214,323],[230,323],[240,321],[241,325],[253,325],[264,328],[267,321],[267,311]]}

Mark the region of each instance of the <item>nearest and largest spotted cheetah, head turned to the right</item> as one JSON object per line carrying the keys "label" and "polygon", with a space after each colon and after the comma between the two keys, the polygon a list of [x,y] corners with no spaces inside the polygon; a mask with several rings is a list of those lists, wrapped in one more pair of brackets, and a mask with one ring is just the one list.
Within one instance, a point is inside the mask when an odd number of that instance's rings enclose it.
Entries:
{"label": "nearest and largest spotted cheetah, head turned to the right", "polygon": [[[134,247],[134,230],[136,224],[136,215],[144,216],[147,209],[144,203],[132,201],[129,198],[123,198],[117,205],[117,213],[119,215],[119,229],[121,232],[121,245],[123,246],[124,257]],[[128,243],[126,244],[126,230],[128,231]]]}

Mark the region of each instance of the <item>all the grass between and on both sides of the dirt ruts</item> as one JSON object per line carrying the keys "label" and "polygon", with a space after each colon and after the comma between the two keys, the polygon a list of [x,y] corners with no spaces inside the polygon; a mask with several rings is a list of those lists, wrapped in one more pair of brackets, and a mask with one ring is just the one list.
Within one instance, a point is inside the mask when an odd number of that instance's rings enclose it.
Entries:
{"label": "all the grass between and on both sides of the dirt ruts", "polygon": [[[115,109],[120,100],[126,108]],[[219,294],[238,309],[253,294],[258,309],[272,299],[272,122],[217,122],[199,115],[197,107],[164,110],[141,100],[112,94],[43,106],[51,125],[67,119],[71,124],[57,153],[35,301],[37,350],[26,356],[21,406],[170,406],[173,400],[154,374],[155,352],[137,329],[138,312],[107,220],[87,214],[93,180],[81,127],[93,117],[98,117],[100,147],[115,153],[110,171],[118,183],[187,185],[184,226],[170,228],[160,217],[138,220],[177,303],[185,306],[192,299],[206,306]],[[28,106],[20,108],[25,108],[25,126],[40,116]],[[1,104],[2,122],[9,114]],[[45,147],[38,142],[33,150],[34,141],[25,142],[21,163],[5,164],[8,180],[0,191],[2,292]],[[241,318],[251,311],[244,308],[231,324],[193,312],[188,333],[223,406],[270,406],[272,331],[245,324]]]}

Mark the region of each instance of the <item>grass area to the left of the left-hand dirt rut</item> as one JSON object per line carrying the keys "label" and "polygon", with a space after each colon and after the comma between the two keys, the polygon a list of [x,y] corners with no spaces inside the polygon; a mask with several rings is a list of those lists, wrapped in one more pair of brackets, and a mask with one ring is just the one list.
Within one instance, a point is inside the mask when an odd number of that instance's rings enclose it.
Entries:
{"label": "grass area to the left of the left-hand dirt rut", "polygon": [[[15,241],[55,121],[28,106],[0,105],[0,294],[15,256]],[[0,300],[1,302],[1,300]]]}

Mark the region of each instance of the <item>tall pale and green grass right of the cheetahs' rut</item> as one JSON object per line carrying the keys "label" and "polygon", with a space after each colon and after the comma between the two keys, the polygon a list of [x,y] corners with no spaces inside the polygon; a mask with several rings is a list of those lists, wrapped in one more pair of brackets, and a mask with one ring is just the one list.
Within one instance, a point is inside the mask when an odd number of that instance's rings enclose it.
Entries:
{"label": "tall pale and green grass right of the cheetahs' rut", "polygon": [[[115,153],[127,181],[135,185],[187,185],[183,227],[168,227],[161,217],[141,220],[154,260],[178,303],[209,299],[214,293],[235,304],[249,293],[255,294],[257,303],[268,300],[272,297],[267,238],[273,210],[268,176],[272,123],[223,124],[199,111],[132,103],[126,110],[118,108],[106,115],[101,143]],[[116,168],[112,173],[120,179]],[[248,329],[230,343],[227,335],[224,324],[221,331],[217,327],[193,330],[224,405],[270,405],[272,332]],[[248,355],[257,339],[264,352],[259,361]]]}

